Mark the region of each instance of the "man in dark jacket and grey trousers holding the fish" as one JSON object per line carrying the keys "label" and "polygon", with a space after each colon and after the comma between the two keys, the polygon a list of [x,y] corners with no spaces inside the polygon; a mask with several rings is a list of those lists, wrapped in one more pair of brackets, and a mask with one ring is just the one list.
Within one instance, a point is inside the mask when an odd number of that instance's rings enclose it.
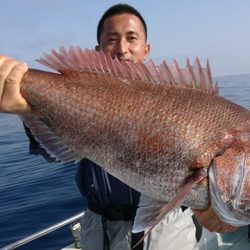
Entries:
{"label": "man in dark jacket and grey trousers holding the fish", "polygon": [[[126,4],[109,8],[97,27],[96,50],[109,52],[119,60],[133,63],[144,61],[150,51],[147,26],[140,13]],[[0,57],[0,111],[37,114],[19,93],[20,81],[27,65]],[[40,146],[31,140],[33,153],[41,153]],[[77,183],[87,198],[88,209],[82,218],[81,245],[84,250],[130,249],[131,228],[139,202],[139,193],[112,177],[99,166],[83,159],[77,172]],[[190,209],[178,208],[170,212],[144,240],[140,249],[194,249],[195,227]],[[219,221],[211,207],[197,211],[202,225],[210,231],[224,232],[233,227]],[[132,245],[136,238],[132,237]],[[143,247],[143,248],[142,248]]]}

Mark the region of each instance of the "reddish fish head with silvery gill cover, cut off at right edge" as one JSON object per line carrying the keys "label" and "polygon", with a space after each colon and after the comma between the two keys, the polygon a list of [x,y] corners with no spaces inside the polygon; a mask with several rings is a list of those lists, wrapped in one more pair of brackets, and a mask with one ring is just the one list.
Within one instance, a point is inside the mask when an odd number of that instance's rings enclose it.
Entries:
{"label": "reddish fish head with silvery gill cover, cut off at right edge", "polygon": [[250,224],[250,133],[214,158],[209,190],[212,207],[222,221],[233,226]]}

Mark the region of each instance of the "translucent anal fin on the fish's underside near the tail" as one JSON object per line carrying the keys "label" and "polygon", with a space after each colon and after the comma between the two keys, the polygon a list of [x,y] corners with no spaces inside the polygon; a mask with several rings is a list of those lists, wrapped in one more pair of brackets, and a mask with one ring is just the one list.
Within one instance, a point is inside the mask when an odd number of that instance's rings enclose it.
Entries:
{"label": "translucent anal fin on the fish's underside near the tail", "polygon": [[21,116],[20,119],[28,127],[36,141],[46,150],[51,158],[63,164],[78,162],[79,157],[57,137],[50,128],[35,116]]}

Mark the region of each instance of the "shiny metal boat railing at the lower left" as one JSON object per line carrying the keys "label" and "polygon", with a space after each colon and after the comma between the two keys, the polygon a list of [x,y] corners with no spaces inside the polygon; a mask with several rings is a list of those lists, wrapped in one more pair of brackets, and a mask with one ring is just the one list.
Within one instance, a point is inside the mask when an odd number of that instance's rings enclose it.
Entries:
{"label": "shiny metal boat railing at the lower left", "polygon": [[72,217],[70,217],[70,218],[68,218],[66,220],[63,220],[63,221],[61,221],[61,222],[59,222],[57,224],[54,224],[54,225],[52,225],[50,227],[47,227],[47,228],[45,228],[45,229],[43,229],[41,231],[38,231],[37,233],[31,234],[30,236],[27,236],[27,237],[25,237],[25,238],[23,238],[21,240],[18,240],[16,242],[12,243],[12,244],[9,244],[9,245],[1,248],[1,250],[16,249],[17,247],[20,247],[20,246],[22,246],[22,245],[24,245],[24,244],[26,244],[26,243],[28,243],[28,242],[30,242],[32,240],[40,238],[40,237],[42,237],[42,236],[44,236],[46,234],[49,234],[49,233],[57,230],[58,228],[61,228],[61,227],[65,226],[65,225],[67,225],[67,224],[70,224],[70,223],[80,219],[83,215],[84,215],[84,212],[76,214],[76,215],[74,215],[74,216],[72,216]]}

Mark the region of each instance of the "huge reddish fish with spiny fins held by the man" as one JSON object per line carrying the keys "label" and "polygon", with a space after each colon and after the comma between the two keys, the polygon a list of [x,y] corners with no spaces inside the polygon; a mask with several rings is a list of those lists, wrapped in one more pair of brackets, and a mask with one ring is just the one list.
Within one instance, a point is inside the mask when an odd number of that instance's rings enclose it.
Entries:
{"label": "huge reddish fish with spiny fins held by the man", "polygon": [[250,112],[218,95],[209,64],[132,64],[79,47],[39,61],[59,73],[25,74],[21,93],[41,113],[26,125],[53,157],[88,158],[145,195],[135,231],[180,200],[250,223]]}

